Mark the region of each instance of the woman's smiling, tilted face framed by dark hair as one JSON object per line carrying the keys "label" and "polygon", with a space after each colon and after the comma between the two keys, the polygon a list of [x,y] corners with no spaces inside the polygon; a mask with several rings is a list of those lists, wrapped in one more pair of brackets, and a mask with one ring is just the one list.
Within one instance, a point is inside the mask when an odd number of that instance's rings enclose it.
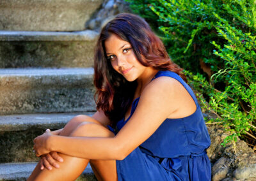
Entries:
{"label": "woman's smiling, tilted face framed by dark hair", "polygon": [[139,78],[147,67],[143,66],[136,58],[131,44],[122,40],[116,34],[111,34],[105,41],[106,55],[113,68],[128,81]]}

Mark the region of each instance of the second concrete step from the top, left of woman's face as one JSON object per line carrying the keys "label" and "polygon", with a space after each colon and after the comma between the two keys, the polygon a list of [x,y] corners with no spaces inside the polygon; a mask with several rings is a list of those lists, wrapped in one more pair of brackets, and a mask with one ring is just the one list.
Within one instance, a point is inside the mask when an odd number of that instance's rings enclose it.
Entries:
{"label": "second concrete step from the top, left of woman's face", "polygon": [[98,35],[90,30],[0,31],[0,68],[91,67]]}

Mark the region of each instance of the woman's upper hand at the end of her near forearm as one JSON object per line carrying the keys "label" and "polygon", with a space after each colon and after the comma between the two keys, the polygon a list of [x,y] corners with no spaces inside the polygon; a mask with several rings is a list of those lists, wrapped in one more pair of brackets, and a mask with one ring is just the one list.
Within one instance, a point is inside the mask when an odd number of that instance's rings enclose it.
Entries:
{"label": "woman's upper hand at the end of her near forearm", "polygon": [[46,129],[44,134],[37,136],[34,139],[34,150],[37,157],[51,152],[51,148],[49,147],[49,138],[51,138],[52,135],[51,130]]}

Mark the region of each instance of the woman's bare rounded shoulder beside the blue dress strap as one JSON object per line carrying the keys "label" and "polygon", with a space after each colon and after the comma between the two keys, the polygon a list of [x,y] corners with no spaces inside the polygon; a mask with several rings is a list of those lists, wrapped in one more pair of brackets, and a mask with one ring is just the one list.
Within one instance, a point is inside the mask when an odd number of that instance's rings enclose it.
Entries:
{"label": "woman's bare rounded shoulder beside the blue dress strap", "polygon": [[[186,88],[175,78],[161,76],[150,82],[143,90],[141,105],[152,105],[154,110],[166,110],[166,118],[181,118],[195,112],[195,101]],[[157,105],[157,106],[156,106]]]}

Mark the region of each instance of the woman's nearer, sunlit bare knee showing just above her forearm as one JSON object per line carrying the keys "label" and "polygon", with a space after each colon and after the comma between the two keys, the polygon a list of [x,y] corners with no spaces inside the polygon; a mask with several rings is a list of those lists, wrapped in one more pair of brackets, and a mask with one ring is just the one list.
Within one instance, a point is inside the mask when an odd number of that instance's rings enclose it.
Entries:
{"label": "woman's nearer, sunlit bare knee showing just above her forearm", "polygon": [[72,131],[70,136],[87,136],[87,137],[114,137],[108,128],[94,123],[94,122],[82,122],[79,126]]}

